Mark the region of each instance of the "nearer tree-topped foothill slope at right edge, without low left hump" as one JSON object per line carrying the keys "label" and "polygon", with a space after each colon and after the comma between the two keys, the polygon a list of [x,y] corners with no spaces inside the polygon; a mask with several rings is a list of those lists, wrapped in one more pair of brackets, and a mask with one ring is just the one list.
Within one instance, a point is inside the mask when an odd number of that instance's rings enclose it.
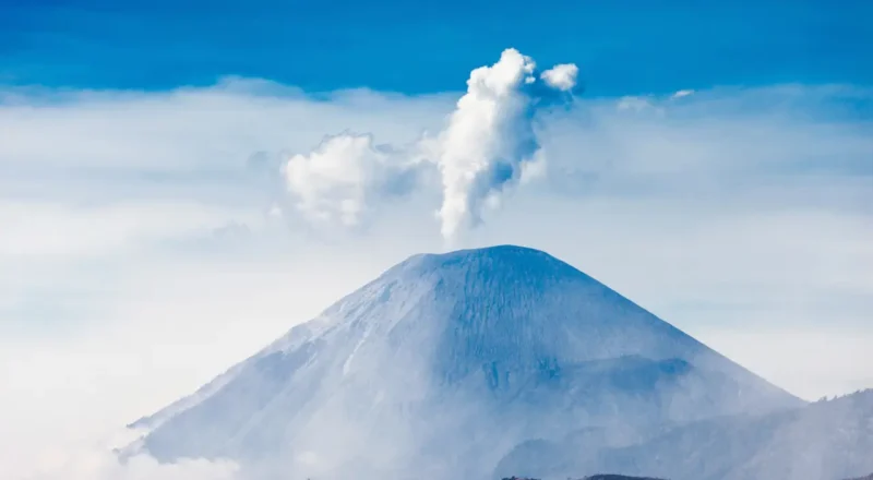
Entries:
{"label": "nearer tree-topped foothill slope at right edge, without low left hump", "polygon": [[[681,461],[671,464],[668,455]],[[677,480],[860,476],[873,470],[873,391],[763,417],[689,425],[617,452],[609,463],[625,465],[631,458]]]}

